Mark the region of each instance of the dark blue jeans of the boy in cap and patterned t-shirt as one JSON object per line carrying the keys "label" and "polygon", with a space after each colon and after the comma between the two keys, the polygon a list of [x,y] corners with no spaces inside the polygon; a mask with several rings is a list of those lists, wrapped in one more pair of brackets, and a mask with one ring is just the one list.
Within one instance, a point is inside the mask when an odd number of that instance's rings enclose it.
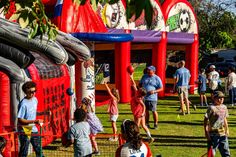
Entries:
{"label": "dark blue jeans of the boy in cap and patterned t-shirt", "polygon": [[207,143],[208,150],[211,146],[213,148],[214,156],[216,154],[216,149],[218,148],[222,157],[230,157],[228,137],[211,135],[211,141],[208,141]]}

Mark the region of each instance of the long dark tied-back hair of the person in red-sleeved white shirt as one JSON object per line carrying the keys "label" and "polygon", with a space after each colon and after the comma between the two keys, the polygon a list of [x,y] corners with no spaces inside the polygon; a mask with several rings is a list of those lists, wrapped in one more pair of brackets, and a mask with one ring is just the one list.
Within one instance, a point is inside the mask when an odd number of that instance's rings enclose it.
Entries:
{"label": "long dark tied-back hair of the person in red-sleeved white shirt", "polygon": [[130,142],[133,149],[140,149],[142,145],[142,138],[139,133],[138,125],[134,121],[124,120],[121,124],[121,133],[125,135],[125,140]]}

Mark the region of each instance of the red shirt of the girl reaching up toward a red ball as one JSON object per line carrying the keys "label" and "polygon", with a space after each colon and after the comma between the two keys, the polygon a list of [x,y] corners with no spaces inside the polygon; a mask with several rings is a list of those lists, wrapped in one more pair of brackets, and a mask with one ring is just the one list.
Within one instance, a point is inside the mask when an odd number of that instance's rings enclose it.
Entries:
{"label": "red shirt of the girl reaching up toward a red ball", "polygon": [[144,110],[143,105],[141,104],[142,101],[142,98],[139,97],[132,97],[130,101],[131,111],[136,118],[142,117],[142,113]]}

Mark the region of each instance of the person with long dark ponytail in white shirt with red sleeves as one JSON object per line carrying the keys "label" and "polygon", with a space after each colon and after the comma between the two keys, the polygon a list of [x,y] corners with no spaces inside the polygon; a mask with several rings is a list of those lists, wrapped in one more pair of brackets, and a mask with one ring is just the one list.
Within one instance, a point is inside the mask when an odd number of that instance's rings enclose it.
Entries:
{"label": "person with long dark ponytail in white shirt with red sleeves", "polygon": [[121,124],[122,138],[126,143],[116,150],[116,157],[152,157],[148,144],[142,141],[138,125],[131,120],[124,120]]}

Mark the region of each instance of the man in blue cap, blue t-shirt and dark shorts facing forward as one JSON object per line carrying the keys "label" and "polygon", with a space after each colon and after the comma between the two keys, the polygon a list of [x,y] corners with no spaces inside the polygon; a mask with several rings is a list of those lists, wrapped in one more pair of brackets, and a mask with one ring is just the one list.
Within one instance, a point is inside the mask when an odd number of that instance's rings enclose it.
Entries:
{"label": "man in blue cap, blue t-shirt and dark shorts facing forward", "polygon": [[154,129],[157,129],[158,123],[158,113],[156,111],[157,108],[157,100],[158,100],[158,92],[163,90],[163,85],[160,77],[155,74],[156,68],[154,66],[147,67],[147,74],[144,74],[140,80],[140,86],[144,87],[147,91],[147,95],[145,96],[145,106],[146,106],[146,124],[150,128],[149,125],[149,111],[152,111],[153,120],[154,120]]}

